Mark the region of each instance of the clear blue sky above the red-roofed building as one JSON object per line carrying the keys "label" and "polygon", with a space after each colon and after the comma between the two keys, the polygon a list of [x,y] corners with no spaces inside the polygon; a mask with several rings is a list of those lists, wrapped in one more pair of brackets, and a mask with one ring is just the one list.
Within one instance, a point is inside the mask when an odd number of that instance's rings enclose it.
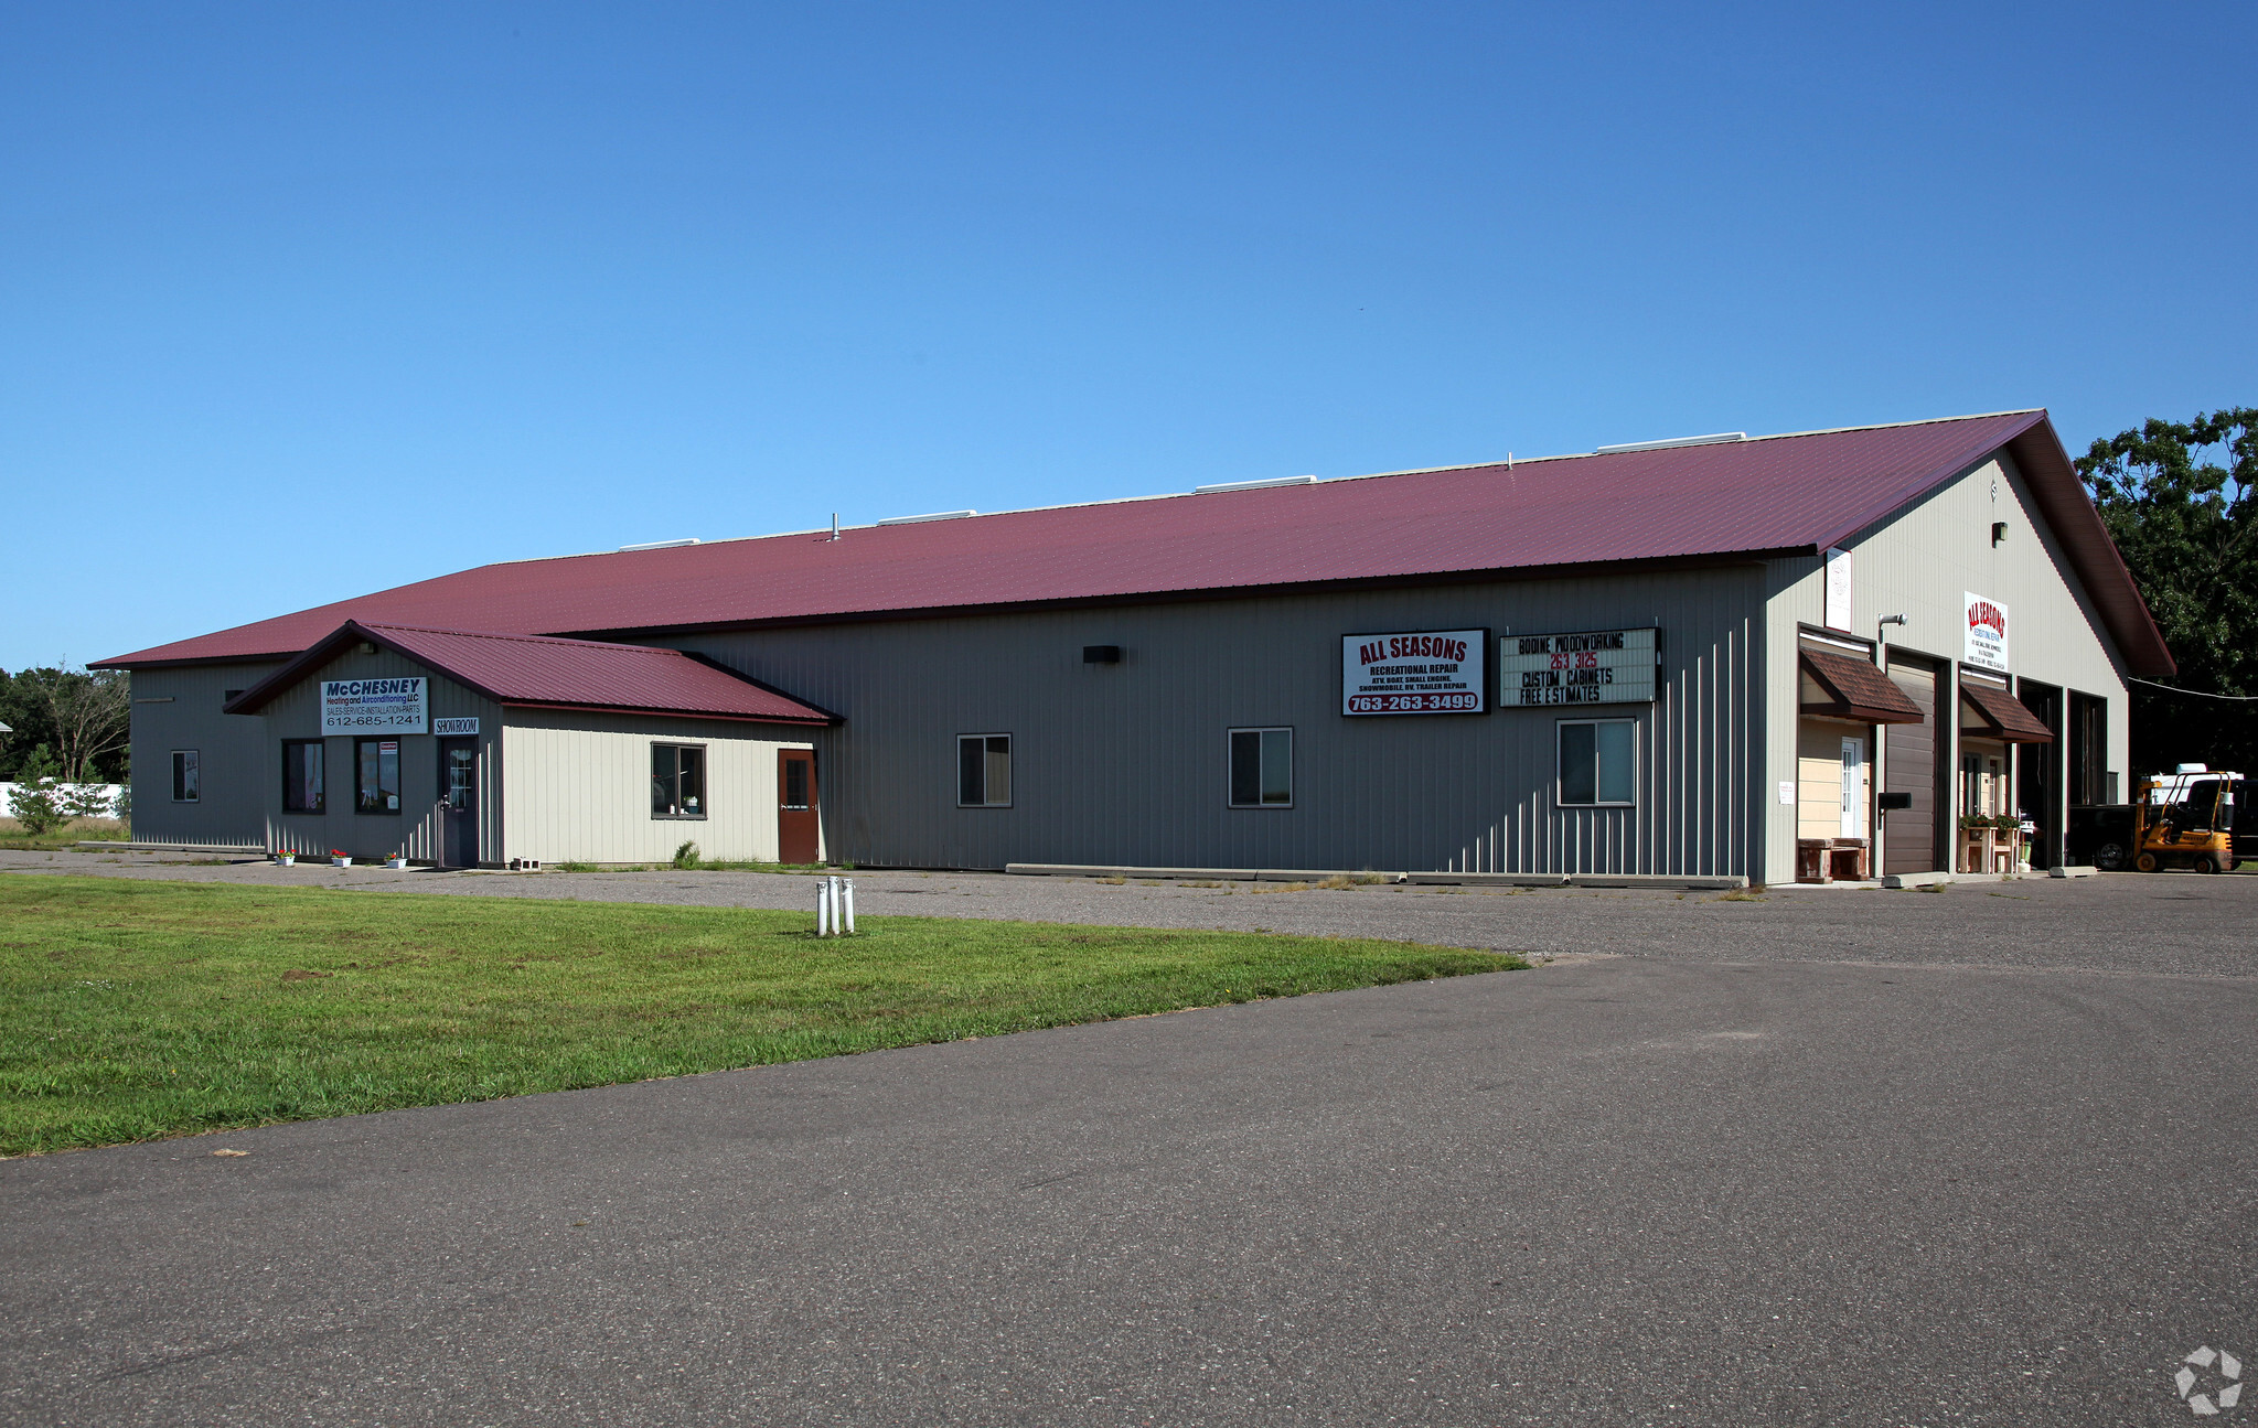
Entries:
{"label": "clear blue sky above the red-roofed building", "polygon": [[0,665],[490,559],[2258,402],[2251,5],[0,9]]}

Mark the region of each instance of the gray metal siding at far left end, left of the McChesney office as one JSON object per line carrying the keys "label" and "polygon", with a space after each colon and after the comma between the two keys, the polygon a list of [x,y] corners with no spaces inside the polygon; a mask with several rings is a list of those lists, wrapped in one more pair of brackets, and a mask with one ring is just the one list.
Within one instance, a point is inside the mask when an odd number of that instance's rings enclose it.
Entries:
{"label": "gray metal siding at far left end, left of the McChesney office", "polygon": [[[219,713],[280,665],[185,665],[133,672],[133,837],[190,846],[262,846],[266,720]],[[169,699],[163,702],[160,699]],[[172,801],[172,751],[196,749],[203,796]]]}

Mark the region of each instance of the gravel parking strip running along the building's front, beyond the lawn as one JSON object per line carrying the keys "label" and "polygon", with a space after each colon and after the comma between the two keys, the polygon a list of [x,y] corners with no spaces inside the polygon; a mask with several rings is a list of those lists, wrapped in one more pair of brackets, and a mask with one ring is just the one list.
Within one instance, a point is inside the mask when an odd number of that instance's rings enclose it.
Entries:
{"label": "gravel parking strip running along the building's front, beyond the lawn", "polygon": [[[0,853],[0,871],[185,878],[257,887],[334,887],[481,898],[578,898],[808,909],[815,889],[788,873],[438,873],[431,869],[278,869],[262,860]],[[1705,961],[1881,961],[2120,972],[2258,972],[2258,873],[2104,873],[1955,882],[1942,891],[1766,889],[1754,896],[1612,889],[1350,887],[1280,891],[1023,878],[1007,873],[854,873],[860,914],[1217,927],[1305,936],[1384,936],[1535,957]]]}

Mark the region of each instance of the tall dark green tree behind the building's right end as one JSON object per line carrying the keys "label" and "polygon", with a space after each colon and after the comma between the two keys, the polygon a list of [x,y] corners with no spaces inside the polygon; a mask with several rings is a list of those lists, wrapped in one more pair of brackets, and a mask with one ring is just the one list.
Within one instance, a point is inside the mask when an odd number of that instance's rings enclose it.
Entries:
{"label": "tall dark green tree behind the building's right end", "polygon": [[[2150,417],[2093,442],[2077,474],[2179,661],[2179,677],[2163,684],[2258,695],[2258,408]],[[2136,774],[2258,765],[2258,704],[2132,690]]]}

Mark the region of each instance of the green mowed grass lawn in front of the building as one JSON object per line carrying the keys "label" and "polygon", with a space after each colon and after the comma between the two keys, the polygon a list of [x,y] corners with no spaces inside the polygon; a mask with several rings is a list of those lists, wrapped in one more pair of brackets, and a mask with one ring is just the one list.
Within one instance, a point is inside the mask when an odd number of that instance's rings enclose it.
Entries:
{"label": "green mowed grass lawn in front of the building", "polygon": [[0,875],[0,1155],[1526,966],[1411,943]]}

